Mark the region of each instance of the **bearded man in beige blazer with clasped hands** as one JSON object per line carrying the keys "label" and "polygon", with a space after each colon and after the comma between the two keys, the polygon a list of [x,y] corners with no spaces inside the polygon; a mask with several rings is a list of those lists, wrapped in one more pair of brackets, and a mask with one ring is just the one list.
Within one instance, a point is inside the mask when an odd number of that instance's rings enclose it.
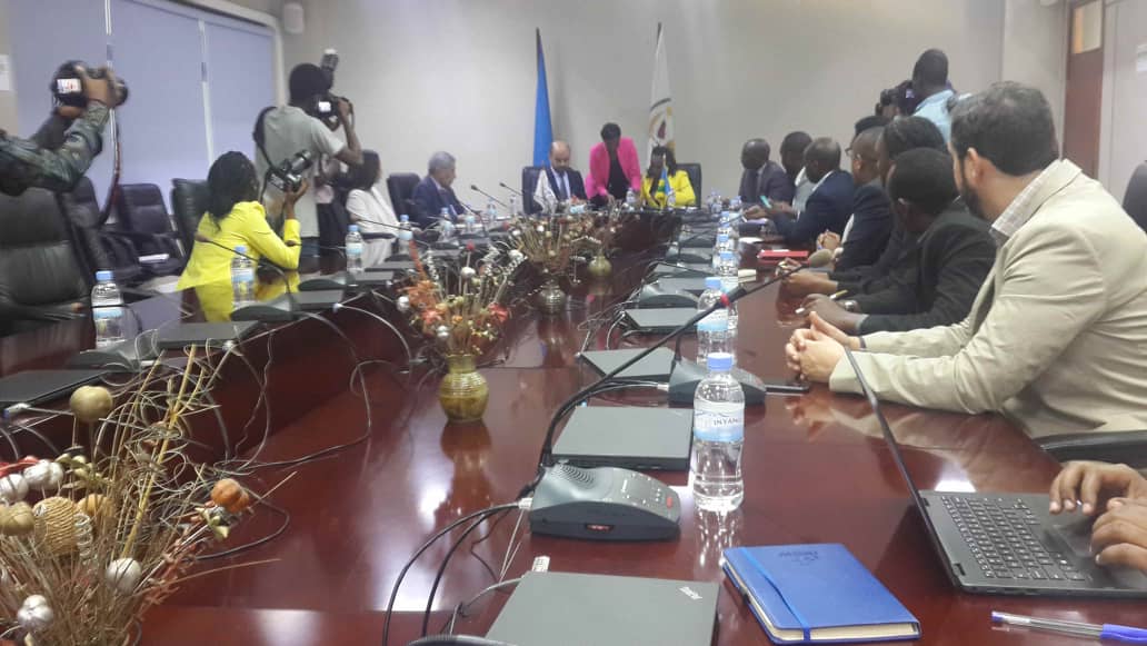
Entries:
{"label": "bearded man in beige blazer with clasped hands", "polygon": [[996,411],[1035,437],[1147,428],[1147,234],[1058,148],[1038,89],[999,83],[960,102],[957,186],[999,246],[970,313],[863,337],[813,316],[785,349],[789,366],[860,392],[848,344],[891,402]]}

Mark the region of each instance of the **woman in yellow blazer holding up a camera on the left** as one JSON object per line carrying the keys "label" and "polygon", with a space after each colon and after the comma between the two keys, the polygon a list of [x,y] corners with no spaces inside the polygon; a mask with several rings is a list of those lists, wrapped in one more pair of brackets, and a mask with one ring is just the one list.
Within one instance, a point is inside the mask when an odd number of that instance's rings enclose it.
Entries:
{"label": "woman in yellow blazer holding up a camera on the left", "polygon": [[302,248],[295,202],[306,193],[306,182],[297,193],[286,195],[281,239],[267,224],[266,212],[258,202],[255,164],[242,153],[226,153],[211,164],[208,192],[208,212],[200,219],[196,239],[214,244],[195,243],[178,287],[195,289],[209,321],[225,321],[231,319],[234,309],[231,263],[235,255],[229,249],[242,244],[247,247],[247,255],[256,260],[266,258],[284,270],[298,268]]}

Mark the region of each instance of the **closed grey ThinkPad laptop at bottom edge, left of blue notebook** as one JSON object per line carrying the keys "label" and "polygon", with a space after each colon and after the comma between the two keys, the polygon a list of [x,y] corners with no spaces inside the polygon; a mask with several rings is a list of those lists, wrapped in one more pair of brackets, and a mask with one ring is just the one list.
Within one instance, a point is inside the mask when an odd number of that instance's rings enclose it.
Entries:
{"label": "closed grey ThinkPad laptop at bottom edge, left of blue notebook", "polygon": [[716,583],[529,573],[486,633],[515,646],[709,646]]}

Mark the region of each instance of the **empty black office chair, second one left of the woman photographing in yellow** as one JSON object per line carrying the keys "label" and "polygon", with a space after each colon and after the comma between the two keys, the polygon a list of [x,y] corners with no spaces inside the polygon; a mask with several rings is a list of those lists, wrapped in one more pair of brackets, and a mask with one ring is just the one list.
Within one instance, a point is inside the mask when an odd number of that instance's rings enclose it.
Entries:
{"label": "empty black office chair, second one left of the woman photographing in yellow", "polygon": [[116,192],[116,233],[135,244],[140,256],[167,254],[166,260],[147,263],[151,275],[174,275],[186,260],[179,232],[163,204],[163,193],[154,184],[122,184]]}

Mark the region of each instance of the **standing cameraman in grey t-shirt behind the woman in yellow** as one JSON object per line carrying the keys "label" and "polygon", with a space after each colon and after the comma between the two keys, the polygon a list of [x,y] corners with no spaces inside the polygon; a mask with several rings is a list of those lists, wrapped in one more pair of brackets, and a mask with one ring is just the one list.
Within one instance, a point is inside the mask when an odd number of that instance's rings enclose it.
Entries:
{"label": "standing cameraman in grey t-shirt behind the woman in yellow", "polygon": [[[359,147],[354,124],[350,118],[351,104],[345,99],[335,99],[329,94],[330,79],[318,65],[303,63],[296,65],[289,79],[290,102],[280,108],[265,110],[256,123],[257,142],[256,166],[259,178],[265,178],[267,169],[278,166],[283,159],[301,151],[306,151],[312,158],[320,156],[335,157],[350,166],[362,163],[362,150]],[[337,125],[346,133],[346,142],[338,137],[315,115],[319,104],[337,101]],[[262,142],[259,140],[262,139]],[[312,165],[305,174],[309,182],[314,184],[314,176],[320,164]],[[264,204],[267,212],[274,217],[279,213],[282,194],[271,186],[266,187]],[[307,263],[319,255],[319,219],[313,193],[306,193],[295,204],[303,236],[302,262]]]}

